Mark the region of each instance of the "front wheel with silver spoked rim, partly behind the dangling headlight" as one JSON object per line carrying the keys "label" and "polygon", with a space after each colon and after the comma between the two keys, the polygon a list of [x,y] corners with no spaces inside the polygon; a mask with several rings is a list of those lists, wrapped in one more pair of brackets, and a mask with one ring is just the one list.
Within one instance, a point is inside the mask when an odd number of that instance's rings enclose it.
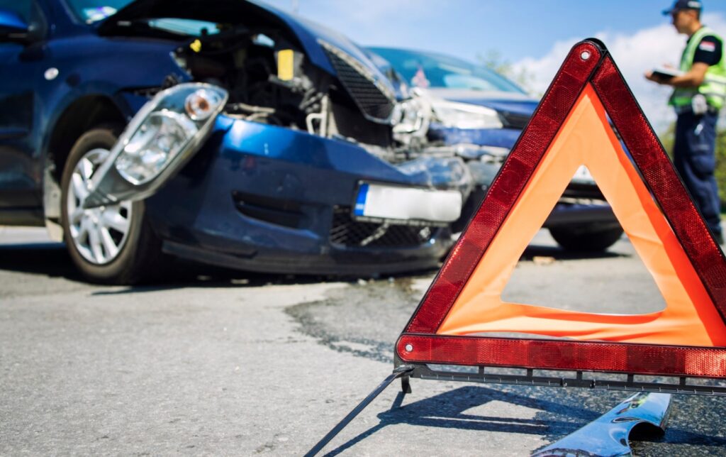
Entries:
{"label": "front wheel with silver spoked rim, partly behind the dangling headlight", "polygon": [[110,154],[118,127],[89,130],[68,155],[61,179],[62,225],[70,258],[94,282],[131,284],[149,278],[160,243],[144,215],[144,202],[83,208],[90,180]]}

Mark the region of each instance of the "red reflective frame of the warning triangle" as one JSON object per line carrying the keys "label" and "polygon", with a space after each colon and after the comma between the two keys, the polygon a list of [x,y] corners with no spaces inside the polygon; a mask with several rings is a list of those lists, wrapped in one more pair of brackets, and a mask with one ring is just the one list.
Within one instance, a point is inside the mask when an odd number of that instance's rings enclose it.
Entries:
{"label": "red reflective frame of the warning triangle", "polygon": [[726,259],[605,45],[576,44],[396,343],[401,363],[726,378],[726,347],[437,335],[479,260],[590,84],[726,323]]}

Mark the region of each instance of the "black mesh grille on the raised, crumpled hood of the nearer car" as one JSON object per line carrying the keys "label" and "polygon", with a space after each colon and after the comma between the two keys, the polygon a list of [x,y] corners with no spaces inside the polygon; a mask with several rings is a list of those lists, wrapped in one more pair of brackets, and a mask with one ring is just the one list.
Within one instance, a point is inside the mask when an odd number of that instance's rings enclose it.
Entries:
{"label": "black mesh grille on the raised, crumpled hood of the nearer car", "polygon": [[338,73],[340,82],[364,115],[372,121],[388,122],[393,112],[395,95],[388,93],[386,86],[375,81],[370,71],[354,57],[325,41],[320,41],[320,44]]}

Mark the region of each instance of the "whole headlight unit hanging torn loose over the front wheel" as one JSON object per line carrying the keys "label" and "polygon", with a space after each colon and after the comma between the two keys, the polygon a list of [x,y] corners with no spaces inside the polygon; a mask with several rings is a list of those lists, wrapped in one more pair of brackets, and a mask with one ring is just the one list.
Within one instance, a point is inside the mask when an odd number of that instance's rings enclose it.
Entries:
{"label": "whole headlight unit hanging torn loose over the front wheel", "polygon": [[199,149],[228,97],[221,87],[202,83],[179,84],[156,94],[94,173],[83,206],[152,195]]}

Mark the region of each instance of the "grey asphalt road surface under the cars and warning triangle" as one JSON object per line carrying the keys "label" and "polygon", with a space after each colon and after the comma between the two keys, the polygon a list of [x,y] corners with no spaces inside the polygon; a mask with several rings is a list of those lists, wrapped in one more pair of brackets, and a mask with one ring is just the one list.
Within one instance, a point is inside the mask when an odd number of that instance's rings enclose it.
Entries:
{"label": "grey asphalt road surface under the cars and warning triangle", "polygon": [[[0,455],[302,455],[391,373],[434,272],[332,282],[179,268],[93,286],[41,230],[0,227]],[[540,232],[506,299],[647,312],[663,299],[624,239],[572,256]],[[528,455],[625,392],[394,384],[328,455]],[[726,454],[726,398],[679,396],[639,456]]]}

